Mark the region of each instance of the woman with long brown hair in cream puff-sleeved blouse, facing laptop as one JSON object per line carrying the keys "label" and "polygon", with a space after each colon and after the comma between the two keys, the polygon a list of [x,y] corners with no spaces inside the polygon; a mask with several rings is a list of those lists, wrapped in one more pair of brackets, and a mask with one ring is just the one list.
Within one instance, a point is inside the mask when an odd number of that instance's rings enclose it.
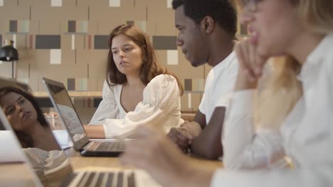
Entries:
{"label": "woman with long brown hair in cream puff-sleeved blouse, facing laptop", "polygon": [[169,132],[180,118],[182,86],[159,64],[152,43],[136,26],[110,33],[102,101],[90,124],[90,137],[129,137],[138,125],[154,124]]}

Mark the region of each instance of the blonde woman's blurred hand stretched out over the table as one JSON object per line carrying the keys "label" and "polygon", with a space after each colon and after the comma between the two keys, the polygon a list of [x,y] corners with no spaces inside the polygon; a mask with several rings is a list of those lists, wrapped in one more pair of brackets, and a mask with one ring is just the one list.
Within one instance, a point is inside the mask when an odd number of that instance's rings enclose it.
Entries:
{"label": "blonde woman's blurred hand stretched out over the table", "polygon": [[[123,164],[147,170],[162,186],[208,186],[212,171],[203,178],[205,175],[199,174],[201,170],[194,169],[191,159],[162,132],[142,125],[136,134],[137,139],[127,144],[121,156]],[[194,176],[201,176],[201,179],[193,179]]]}

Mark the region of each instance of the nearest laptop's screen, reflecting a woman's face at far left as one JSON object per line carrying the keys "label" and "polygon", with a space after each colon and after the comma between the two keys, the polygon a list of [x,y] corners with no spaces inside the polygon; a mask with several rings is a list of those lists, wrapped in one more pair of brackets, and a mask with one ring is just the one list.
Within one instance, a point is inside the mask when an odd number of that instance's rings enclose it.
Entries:
{"label": "nearest laptop's screen, reflecting a woman's face at far left", "polygon": [[[5,141],[6,146],[1,146],[0,155],[5,150],[11,160],[28,161],[31,171],[35,171],[36,175],[33,176],[38,176],[43,186],[60,186],[73,173],[73,169],[43,118],[41,108],[30,93],[18,89],[14,82],[10,85],[1,84],[1,81],[0,128],[4,128],[4,132],[11,132],[6,134],[14,137],[4,137],[5,133],[1,132],[0,145]],[[14,152],[14,148],[18,152]],[[19,155],[25,155],[26,159],[20,159]]]}

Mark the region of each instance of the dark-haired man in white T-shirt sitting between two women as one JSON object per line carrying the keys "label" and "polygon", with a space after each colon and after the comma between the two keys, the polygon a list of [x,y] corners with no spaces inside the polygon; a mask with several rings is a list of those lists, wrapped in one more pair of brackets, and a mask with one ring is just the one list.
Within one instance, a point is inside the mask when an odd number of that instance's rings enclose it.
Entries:
{"label": "dark-haired man in white T-shirt sitting between two women", "polygon": [[200,1],[174,0],[172,6],[179,30],[176,45],[194,67],[207,63],[213,68],[194,121],[172,128],[168,135],[181,149],[190,147],[194,154],[217,159],[223,154],[221,130],[238,74],[233,52],[236,9],[231,1],[209,1],[201,6]]}

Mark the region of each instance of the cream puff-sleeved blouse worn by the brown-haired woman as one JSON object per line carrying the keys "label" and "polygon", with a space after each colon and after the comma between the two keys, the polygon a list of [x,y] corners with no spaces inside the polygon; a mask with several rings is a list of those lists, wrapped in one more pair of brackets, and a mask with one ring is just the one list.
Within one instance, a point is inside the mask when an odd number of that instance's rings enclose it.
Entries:
{"label": "cream puff-sleeved blouse worn by the brown-haired woman", "polygon": [[126,113],[120,103],[122,85],[107,85],[102,91],[102,101],[93,115],[90,124],[103,124],[105,137],[129,137],[138,125],[156,125],[164,132],[179,127],[181,104],[179,86],[174,77],[160,74],[144,88],[143,101],[134,111]]}

